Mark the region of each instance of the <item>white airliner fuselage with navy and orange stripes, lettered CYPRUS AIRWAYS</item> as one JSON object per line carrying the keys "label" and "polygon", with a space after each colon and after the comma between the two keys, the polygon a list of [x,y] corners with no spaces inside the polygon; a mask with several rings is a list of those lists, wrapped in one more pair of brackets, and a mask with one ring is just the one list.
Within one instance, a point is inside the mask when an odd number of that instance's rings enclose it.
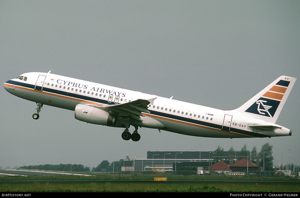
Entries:
{"label": "white airliner fuselage with navy and orange stripes, lettered CYPRUS AIRWAYS", "polygon": [[[268,123],[256,119],[255,116],[235,115],[234,111],[223,111],[50,73],[31,72],[22,76],[27,78],[26,81],[8,80],[4,83],[4,88],[20,98],[44,105],[75,110],[77,104],[107,106],[155,98],[153,103],[148,105],[150,113],[143,112],[143,115],[160,122],[164,126],[159,128],[161,130],[215,138],[290,135],[290,130],[281,126],[276,130],[255,130],[248,125],[268,125]],[[38,79],[39,76],[42,76],[42,79]],[[147,127],[147,124],[142,127]]]}

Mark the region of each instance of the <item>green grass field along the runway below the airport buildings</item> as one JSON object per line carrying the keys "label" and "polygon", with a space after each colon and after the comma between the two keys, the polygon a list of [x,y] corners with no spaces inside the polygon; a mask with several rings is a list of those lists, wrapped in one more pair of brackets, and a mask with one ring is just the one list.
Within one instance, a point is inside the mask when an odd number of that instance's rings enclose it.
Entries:
{"label": "green grass field along the runway below the airport buildings", "polygon": [[[124,183],[122,181],[153,181],[154,177],[167,177],[167,181],[207,181],[202,184]],[[181,175],[111,175],[94,176],[0,176],[0,182],[34,181],[33,184],[0,184],[0,192],[298,192],[298,178],[289,177],[234,177],[234,176],[181,176]],[[41,184],[42,181],[48,181]],[[85,184],[53,184],[51,181],[91,181]],[[107,181],[95,183],[95,181]],[[120,182],[110,182],[120,181]],[[211,184],[209,181],[221,181]],[[237,181],[238,183],[227,183]],[[244,184],[243,181],[270,182],[270,184]],[[241,183],[239,183],[241,182]],[[272,182],[289,182],[273,184]],[[292,183],[290,183],[292,182]]]}

